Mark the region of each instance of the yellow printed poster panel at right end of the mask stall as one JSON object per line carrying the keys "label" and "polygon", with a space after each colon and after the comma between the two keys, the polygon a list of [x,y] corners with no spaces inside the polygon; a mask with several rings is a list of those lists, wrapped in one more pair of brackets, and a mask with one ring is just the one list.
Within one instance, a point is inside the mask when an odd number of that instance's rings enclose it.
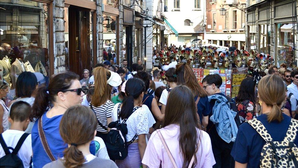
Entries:
{"label": "yellow printed poster panel at right end of the mask stall", "polygon": [[248,74],[248,68],[233,68],[232,69],[232,98],[238,95],[240,84]]}

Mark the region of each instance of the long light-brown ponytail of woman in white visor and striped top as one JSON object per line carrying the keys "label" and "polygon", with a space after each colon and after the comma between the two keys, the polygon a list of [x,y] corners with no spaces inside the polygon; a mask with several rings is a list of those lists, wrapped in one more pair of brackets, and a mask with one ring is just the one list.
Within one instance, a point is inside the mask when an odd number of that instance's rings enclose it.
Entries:
{"label": "long light-brown ponytail of woman in white visor and striped top", "polygon": [[107,84],[107,80],[111,77],[111,72],[104,67],[93,69],[94,75],[94,94],[92,97],[92,105],[98,107],[107,102],[111,96],[112,86]]}

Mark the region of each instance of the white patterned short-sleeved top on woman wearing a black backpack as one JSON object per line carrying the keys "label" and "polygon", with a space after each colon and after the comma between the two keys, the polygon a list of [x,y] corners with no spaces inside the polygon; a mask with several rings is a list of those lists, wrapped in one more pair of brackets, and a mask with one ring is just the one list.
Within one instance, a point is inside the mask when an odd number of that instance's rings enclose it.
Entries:
{"label": "white patterned short-sleeved top on woman wearing a black backpack", "polygon": [[[112,121],[118,120],[117,115],[117,109],[118,109],[119,103],[115,104],[114,109],[112,111]],[[146,106],[146,105],[143,105]],[[121,108],[119,109],[121,111]],[[152,121],[153,119],[153,121]],[[120,119],[121,122],[123,121]],[[127,119],[127,129],[128,133],[126,135],[126,140],[130,141],[133,139],[133,137],[141,134],[148,134],[149,128],[152,127],[152,125],[155,123],[155,120],[151,114],[151,112],[146,110],[144,107],[138,108],[136,111],[131,114],[131,116]],[[138,139],[138,137],[136,137]]]}

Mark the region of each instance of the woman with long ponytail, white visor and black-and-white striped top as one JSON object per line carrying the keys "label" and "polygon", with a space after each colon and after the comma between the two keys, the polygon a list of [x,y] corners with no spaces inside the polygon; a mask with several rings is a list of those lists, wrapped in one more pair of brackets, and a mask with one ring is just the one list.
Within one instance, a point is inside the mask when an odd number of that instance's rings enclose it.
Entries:
{"label": "woman with long ponytail, white visor and black-and-white striped top", "polygon": [[121,77],[104,67],[93,69],[94,75],[94,94],[90,102],[90,108],[95,112],[99,121],[97,125],[96,136],[106,140],[110,128],[107,126],[112,122],[112,110],[114,103],[110,100],[113,87],[118,87],[121,83]]}

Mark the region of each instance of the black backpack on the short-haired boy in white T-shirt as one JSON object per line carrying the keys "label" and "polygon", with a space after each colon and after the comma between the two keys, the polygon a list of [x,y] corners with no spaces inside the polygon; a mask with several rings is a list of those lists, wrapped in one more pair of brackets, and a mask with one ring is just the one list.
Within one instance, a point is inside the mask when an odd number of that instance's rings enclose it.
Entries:
{"label": "black backpack on the short-haired boy in white T-shirt", "polygon": [[[29,135],[28,133],[24,133],[21,136],[18,143],[16,144],[16,147],[13,148],[13,147],[7,147],[2,134],[0,134],[0,142],[1,142],[2,148],[5,152],[5,155],[2,158],[0,158],[0,167],[1,168],[13,168],[13,167],[23,168],[24,167],[23,161],[16,154],[19,152],[22,144],[24,143],[24,141],[26,140],[28,135]],[[9,151],[9,149],[13,150],[13,152],[11,153]]]}

